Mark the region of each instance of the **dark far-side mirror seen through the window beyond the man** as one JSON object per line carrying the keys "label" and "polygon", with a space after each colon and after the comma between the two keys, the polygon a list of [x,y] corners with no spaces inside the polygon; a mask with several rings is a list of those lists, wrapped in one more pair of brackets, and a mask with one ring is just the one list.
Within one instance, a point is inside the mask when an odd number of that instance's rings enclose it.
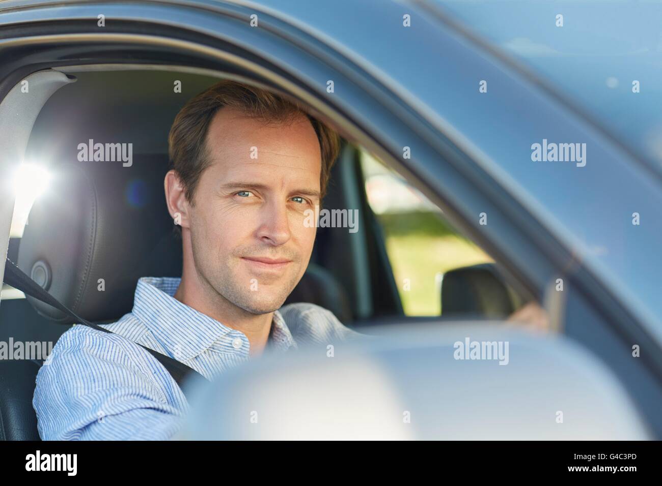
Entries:
{"label": "dark far-side mirror seen through the window beyond the man", "polygon": [[494,263],[456,268],[442,278],[444,317],[502,319],[520,304]]}

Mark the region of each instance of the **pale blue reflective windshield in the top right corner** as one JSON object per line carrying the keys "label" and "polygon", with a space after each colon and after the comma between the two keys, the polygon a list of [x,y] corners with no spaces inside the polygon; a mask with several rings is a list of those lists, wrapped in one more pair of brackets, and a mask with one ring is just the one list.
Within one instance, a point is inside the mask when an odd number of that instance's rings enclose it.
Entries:
{"label": "pale blue reflective windshield in the top right corner", "polygon": [[662,3],[434,0],[662,173]]}

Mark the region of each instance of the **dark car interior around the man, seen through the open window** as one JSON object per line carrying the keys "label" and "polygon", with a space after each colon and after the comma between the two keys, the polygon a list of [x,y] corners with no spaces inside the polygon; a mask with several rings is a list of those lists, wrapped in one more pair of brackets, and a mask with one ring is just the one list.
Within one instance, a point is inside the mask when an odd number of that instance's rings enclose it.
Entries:
{"label": "dark car interior around the man, seen through the open window", "polygon": [[[8,258],[85,319],[113,322],[131,310],[138,278],[181,276],[181,242],[163,192],[167,134],[181,106],[218,78],[156,69],[70,68],[66,76],[71,82],[40,108],[25,155],[26,162],[48,167],[50,184],[12,235]],[[175,81],[181,93],[173,90]],[[77,147],[88,141],[132,143],[132,165],[79,161]],[[358,209],[364,230],[318,228],[310,266],[286,304],[321,305],[369,333],[375,323],[403,319],[504,318],[531,300],[503,268],[485,259],[446,269],[438,288],[430,282],[439,311],[408,312],[385,227],[366,192],[365,153],[343,140],[324,200],[326,208]],[[441,212],[438,218],[444,221]],[[52,343],[73,324],[61,311],[7,286],[0,323],[2,341]],[[3,360],[0,366],[0,439],[38,440],[32,393],[42,362]]]}

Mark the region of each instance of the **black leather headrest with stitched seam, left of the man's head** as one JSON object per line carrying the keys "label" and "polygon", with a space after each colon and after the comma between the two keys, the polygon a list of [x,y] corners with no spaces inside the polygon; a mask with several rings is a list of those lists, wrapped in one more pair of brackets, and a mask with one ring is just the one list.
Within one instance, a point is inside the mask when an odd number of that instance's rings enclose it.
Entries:
{"label": "black leather headrest with stitched seam, left of the man's head", "polygon": [[[181,276],[181,243],[164,196],[166,155],[52,167],[52,184],[32,206],[19,267],[89,321],[115,320],[133,307],[141,276]],[[28,296],[38,313],[71,323]]]}

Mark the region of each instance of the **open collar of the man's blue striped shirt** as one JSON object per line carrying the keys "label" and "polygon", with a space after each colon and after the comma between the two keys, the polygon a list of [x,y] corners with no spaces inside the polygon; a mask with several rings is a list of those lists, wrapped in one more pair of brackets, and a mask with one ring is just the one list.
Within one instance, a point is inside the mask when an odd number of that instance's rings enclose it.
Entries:
{"label": "open collar of the man's blue striped shirt", "polygon": [[[138,280],[133,304],[133,314],[175,359],[187,361],[195,358],[217,341],[227,344],[223,347],[230,349],[234,349],[232,341],[237,337],[243,337],[248,343],[246,335],[241,331],[223,325],[213,317],[175,299],[173,296],[179,282],[181,278],[142,277]],[[279,311],[273,313],[269,346],[279,350],[296,347]],[[248,356],[248,346],[242,346],[237,352]]]}

